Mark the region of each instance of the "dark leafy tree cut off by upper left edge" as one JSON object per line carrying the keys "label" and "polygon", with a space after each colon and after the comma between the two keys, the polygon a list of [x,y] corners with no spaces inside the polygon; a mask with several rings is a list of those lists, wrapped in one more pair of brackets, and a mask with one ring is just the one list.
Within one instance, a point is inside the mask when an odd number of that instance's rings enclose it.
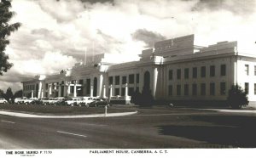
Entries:
{"label": "dark leafy tree cut off by upper left edge", "polygon": [[0,76],[3,72],[7,72],[12,66],[9,63],[9,55],[5,54],[5,48],[9,44],[8,37],[11,32],[17,31],[20,23],[9,24],[9,20],[15,15],[14,12],[9,11],[11,3],[8,0],[1,0],[0,3]]}

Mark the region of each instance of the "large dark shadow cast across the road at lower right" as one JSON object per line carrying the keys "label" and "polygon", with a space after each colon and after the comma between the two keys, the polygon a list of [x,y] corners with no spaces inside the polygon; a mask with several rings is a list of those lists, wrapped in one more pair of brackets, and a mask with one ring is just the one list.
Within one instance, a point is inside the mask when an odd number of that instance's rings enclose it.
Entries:
{"label": "large dark shadow cast across the road at lower right", "polygon": [[[183,138],[191,138],[208,144],[218,144],[224,148],[256,147],[256,119],[249,116],[190,116],[198,125],[160,126],[159,133]],[[204,122],[207,122],[205,124]],[[185,123],[185,122],[184,122]],[[211,123],[209,125],[209,123]],[[218,147],[218,146],[217,146]],[[204,147],[205,148],[205,147]],[[206,146],[207,148],[207,146]],[[214,147],[213,147],[214,148]]]}

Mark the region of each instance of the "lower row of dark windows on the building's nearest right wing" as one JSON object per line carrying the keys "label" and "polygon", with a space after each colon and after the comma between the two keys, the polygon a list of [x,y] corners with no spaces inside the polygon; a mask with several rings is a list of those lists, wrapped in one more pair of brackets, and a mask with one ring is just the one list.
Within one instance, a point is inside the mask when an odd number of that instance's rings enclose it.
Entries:
{"label": "lower row of dark windows on the building's nearest right wing", "polygon": [[[200,86],[200,93],[198,93],[198,86]],[[216,93],[216,84],[214,82],[211,82],[209,84],[209,93],[210,95],[214,96]],[[192,88],[192,95],[196,96],[196,95],[202,95],[205,96],[207,94],[207,84],[206,83],[201,83],[201,84],[184,84],[183,85],[183,95],[189,95],[189,88]],[[220,82],[220,95],[225,95],[226,94],[226,82]],[[168,95],[172,96],[173,95],[173,86],[169,85],[168,86]],[[182,85],[177,84],[176,85],[176,95],[180,96],[182,95]]]}

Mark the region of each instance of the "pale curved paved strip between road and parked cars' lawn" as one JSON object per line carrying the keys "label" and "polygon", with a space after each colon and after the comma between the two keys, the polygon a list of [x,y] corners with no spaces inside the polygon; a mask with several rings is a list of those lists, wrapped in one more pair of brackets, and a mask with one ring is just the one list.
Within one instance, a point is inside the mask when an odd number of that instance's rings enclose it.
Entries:
{"label": "pale curved paved strip between road and parked cars' lawn", "polygon": [[108,113],[107,115],[105,115],[105,114],[90,114],[90,115],[40,116],[40,115],[34,115],[34,114],[10,112],[10,111],[5,111],[5,110],[0,110],[0,114],[5,115],[5,116],[34,117],[34,118],[86,118],[86,117],[129,116],[129,115],[137,114],[137,110],[134,112]]}

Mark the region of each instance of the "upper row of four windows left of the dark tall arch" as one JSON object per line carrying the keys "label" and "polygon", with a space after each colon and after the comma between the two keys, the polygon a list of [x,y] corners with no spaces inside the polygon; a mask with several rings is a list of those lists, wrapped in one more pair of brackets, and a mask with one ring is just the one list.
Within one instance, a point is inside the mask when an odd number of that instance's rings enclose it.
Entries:
{"label": "upper row of four windows left of the dark tall arch", "polygon": [[[135,82],[135,75],[134,74],[130,74],[128,76],[128,83],[133,84]],[[140,75],[136,74],[136,83],[139,83],[140,81]],[[122,76],[122,84],[127,83],[127,76]],[[109,85],[113,85],[113,76],[109,76],[108,77],[108,84]],[[114,76],[114,84],[115,85],[119,85],[120,84],[120,76]]]}

